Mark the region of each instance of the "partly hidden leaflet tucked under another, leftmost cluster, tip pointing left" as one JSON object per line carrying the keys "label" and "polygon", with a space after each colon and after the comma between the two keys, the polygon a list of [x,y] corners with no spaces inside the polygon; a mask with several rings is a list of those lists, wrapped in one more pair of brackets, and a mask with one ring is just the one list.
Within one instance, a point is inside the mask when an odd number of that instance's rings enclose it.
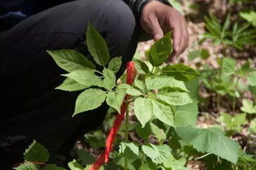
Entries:
{"label": "partly hidden leaflet tucked under another, leftmost cluster, tip pointing left", "polygon": [[64,91],[79,91],[81,89],[86,89],[86,88],[88,88],[87,85],[81,85],[71,78],[66,78],[61,85],[56,87],[56,89],[61,89]]}

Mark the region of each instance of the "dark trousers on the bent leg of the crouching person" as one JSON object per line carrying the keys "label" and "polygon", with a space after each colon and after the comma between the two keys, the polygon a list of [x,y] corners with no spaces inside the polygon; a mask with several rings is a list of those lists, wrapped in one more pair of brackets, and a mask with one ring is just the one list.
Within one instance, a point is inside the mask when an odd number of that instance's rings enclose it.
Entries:
{"label": "dark trousers on the bent leg of the crouching person", "polygon": [[104,120],[106,104],[72,118],[80,92],[55,89],[65,71],[46,53],[75,49],[92,59],[85,46],[88,21],[106,39],[110,56],[123,56],[120,76],[137,48],[136,21],[121,0],[67,2],[0,33],[0,162],[7,164],[2,169],[22,162],[33,139],[50,150],[70,150],[76,137]]}

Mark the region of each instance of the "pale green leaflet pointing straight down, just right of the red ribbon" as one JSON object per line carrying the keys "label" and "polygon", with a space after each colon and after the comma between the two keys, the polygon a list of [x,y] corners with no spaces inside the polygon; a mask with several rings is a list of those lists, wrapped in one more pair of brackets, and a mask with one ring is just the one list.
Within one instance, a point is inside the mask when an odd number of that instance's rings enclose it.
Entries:
{"label": "pale green leaflet pointing straight down, just right of the red ribbon", "polygon": [[133,105],[135,116],[141,122],[143,128],[153,115],[152,102],[149,98],[136,98]]}

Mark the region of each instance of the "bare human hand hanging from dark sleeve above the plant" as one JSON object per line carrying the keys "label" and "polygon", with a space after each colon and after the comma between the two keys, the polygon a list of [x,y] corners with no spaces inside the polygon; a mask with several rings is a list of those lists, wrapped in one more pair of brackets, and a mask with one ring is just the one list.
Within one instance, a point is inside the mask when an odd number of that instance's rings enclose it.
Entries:
{"label": "bare human hand hanging from dark sleeve above the plant", "polygon": [[152,1],[141,12],[141,27],[154,37],[155,41],[173,30],[174,56],[182,54],[189,43],[185,18],[173,7],[162,2]]}

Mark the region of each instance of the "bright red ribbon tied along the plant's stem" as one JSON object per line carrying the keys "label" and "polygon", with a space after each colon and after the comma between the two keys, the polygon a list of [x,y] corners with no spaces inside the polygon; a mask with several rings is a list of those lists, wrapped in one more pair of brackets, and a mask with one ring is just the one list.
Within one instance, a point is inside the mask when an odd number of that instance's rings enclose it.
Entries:
{"label": "bright red ribbon tied along the plant's stem", "polygon": [[[127,71],[127,78],[126,78],[127,82],[126,83],[128,85],[132,85],[132,83],[135,79],[135,76],[137,74],[137,70],[134,67],[133,62],[127,63],[126,71]],[[128,101],[129,97],[130,96],[127,94],[124,99],[126,101]],[[89,168],[89,170],[98,170],[99,168],[101,168],[101,165],[103,163],[109,162],[110,151],[112,150],[112,145],[113,145],[113,142],[115,141],[115,137],[119,130],[119,127],[120,127],[122,121],[124,120],[124,114],[125,114],[126,108],[127,108],[127,103],[123,102],[122,106],[121,106],[121,113],[115,117],[115,122],[113,124],[113,127],[112,127],[112,129],[110,129],[110,133],[109,133],[108,137],[106,138],[105,151],[97,158],[96,162],[92,164],[92,166]]]}

